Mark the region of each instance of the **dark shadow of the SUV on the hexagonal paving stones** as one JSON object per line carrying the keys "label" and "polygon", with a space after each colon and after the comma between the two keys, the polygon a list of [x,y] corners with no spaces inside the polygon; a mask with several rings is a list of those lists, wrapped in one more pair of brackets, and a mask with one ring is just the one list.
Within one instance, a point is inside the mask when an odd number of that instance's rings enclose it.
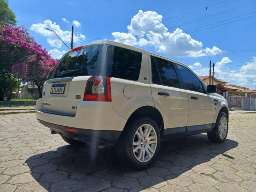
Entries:
{"label": "dark shadow of the SUV on the hexagonal paving stones", "polygon": [[236,146],[238,143],[230,139],[221,144],[211,143],[205,134],[166,140],[161,142],[155,163],[143,171],[117,162],[113,145],[102,149],[93,145],[64,145],[29,157],[26,163],[31,175],[48,191],[92,192],[118,188],[136,192],[149,187],[159,188],[167,180],[172,183],[180,175],[193,174],[195,166],[212,165],[213,157],[234,159],[231,154],[224,153]]}

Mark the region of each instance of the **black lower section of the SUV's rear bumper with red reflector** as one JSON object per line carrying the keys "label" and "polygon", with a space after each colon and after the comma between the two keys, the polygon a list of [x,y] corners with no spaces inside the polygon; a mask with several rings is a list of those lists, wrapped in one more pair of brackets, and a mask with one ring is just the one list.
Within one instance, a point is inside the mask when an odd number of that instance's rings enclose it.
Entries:
{"label": "black lower section of the SUV's rear bumper with red reflector", "polygon": [[94,145],[116,143],[121,134],[121,131],[90,130],[68,127],[77,130],[77,132],[72,132],[67,131],[66,126],[55,125],[40,119],[38,119],[38,121],[52,131],[55,131],[57,134]]}

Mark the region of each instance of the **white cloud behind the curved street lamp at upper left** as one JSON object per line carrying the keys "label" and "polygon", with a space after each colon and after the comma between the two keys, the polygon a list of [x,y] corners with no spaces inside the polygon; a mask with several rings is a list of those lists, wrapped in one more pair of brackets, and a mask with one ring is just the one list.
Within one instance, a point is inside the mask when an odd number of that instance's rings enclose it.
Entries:
{"label": "white cloud behind the curved street lamp at upper left", "polygon": [[[67,42],[69,45],[71,41],[71,31],[63,31],[59,25],[57,25],[55,22],[52,23],[52,21],[49,19],[45,20],[44,23],[32,24],[32,26],[30,27],[30,30],[47,37],[47,42],[51,46],[60,48],[63,44],[61,40],[52,31],[46,30],[44,28],[52,29],[55,33],[58,34],[58,36],[64,42]],[[83,39],[85,39],[84,35],[74,34],[74,43],[77,43]]]}

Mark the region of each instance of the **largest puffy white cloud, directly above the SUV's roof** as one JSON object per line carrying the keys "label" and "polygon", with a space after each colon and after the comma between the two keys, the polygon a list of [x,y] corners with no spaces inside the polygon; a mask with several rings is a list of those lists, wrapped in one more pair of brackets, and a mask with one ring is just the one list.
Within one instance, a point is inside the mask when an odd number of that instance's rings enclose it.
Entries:
{"label": "largest puffy white cloud, directly above the SUV's roof", "polygon": [[222,52],[216,46],[204,49],[201,41],[193,39],[182,29],[177,28],[169,32],[161,23],[162,19],[163,16],[157,12],[140,10],[127,26],[129,32],[112,33],[114,41],[129,45],[153,46],[157,52],[177,57],[216,55]]}

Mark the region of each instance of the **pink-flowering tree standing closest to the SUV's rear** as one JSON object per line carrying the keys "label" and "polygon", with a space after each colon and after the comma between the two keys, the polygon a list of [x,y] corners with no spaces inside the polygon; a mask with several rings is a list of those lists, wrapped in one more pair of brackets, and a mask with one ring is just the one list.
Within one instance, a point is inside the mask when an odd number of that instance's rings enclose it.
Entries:
{"label": "pink-flowering tree standing closest to the SUV's rear", "polygon": [[[24,64],[16,64],[13,66],[12,71],[23,82],[35,84],[38,87],[39,98],[42,98],[42,87],[44,81],[52,72],[53,68],[58,63],[47,52],[42,49],[40,44],[32,43],[34,59]],[[23,73],[20,71],[23,70]]]}

